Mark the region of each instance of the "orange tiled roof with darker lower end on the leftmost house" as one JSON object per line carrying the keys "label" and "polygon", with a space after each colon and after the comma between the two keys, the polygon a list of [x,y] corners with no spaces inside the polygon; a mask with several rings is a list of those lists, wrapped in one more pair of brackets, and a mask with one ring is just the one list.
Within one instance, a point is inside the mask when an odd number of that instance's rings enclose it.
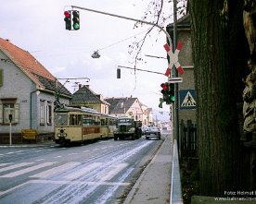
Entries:
{"label": "orange tiled roof with darker lower end on the leftmost house", "polygon": [[[55,91],[56,78],[28,51],[24,51],[2,38],[0,38],[0,51],[6,54],[6,56],[28,76],[28,78],[36,84],[38,89]],[[59,82],[58,87],[60,93],[71,96],[70,91]]]}

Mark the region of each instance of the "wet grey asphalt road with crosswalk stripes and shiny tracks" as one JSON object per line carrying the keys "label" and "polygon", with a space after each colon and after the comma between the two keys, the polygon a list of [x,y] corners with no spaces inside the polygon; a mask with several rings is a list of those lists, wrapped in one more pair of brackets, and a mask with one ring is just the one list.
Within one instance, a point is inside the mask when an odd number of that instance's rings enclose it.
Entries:
{"label": "wet grey asphalt road with crosswalk stripes and shiny tracks", "polygon": [[2,147],[0,203],[122,203],[162,139]]}

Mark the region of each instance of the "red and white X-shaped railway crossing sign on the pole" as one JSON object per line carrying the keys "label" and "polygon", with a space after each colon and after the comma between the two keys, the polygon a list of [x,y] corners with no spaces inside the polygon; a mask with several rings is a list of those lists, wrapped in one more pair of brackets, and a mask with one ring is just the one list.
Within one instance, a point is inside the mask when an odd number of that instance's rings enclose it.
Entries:
{"label": "red and white X-shaped railway crossing sign on the pole", "polygon": [[166,69],[166,72],[164,74],[166,77],[170,76],[173,66],[176,67],[176,69],[178,70],[180,75],[184,74],[184,69],[182,68],[182,66],[180,65],[180,63],[178,61],[178,55],[180,53],[180,50],[182,49],[182,45],[183,45],[183,42],[178,42],[178,45],[177,45],[177,48],[176,48],[174,54],[173,54],[172,48],[170,48],[170,46],[168,44],[163,45],[167,54],[170,56],[170,63],[169,63],[169,66]]}

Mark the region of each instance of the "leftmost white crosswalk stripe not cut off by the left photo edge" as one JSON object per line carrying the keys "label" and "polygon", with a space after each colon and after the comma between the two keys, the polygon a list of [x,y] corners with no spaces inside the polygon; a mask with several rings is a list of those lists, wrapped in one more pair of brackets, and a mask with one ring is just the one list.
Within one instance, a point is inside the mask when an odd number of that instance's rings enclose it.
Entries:
{"label": "leftmost white crosswalk stripe not cut off by the left photo edge", "polygon": [[60,165],[60,166],[57,166],[55,168],[52,168],[52,169],[49,169],[45,172],[42,172],[42,173],[39,173],[39,174],[34,174],[30,177],[32,178],[45,178],[45,177],[48,177],[50,175],[53,175],[53,174],[58,174],[58,173],[63,173],[64,171],[67,171],[67,170],[70,170],[71,168],[73,168],[74,166],[77,166],[81,164],[81,162],[68,162],[68,163],[65,163],[63,165]]}

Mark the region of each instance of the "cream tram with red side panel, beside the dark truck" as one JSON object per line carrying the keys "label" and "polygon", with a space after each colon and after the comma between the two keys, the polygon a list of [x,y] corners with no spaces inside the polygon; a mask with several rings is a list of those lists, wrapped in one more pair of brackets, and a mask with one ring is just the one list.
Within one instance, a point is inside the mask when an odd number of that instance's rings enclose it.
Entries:
{"label": "cream tram with red side panel, beside the dark truck", "polygon": [[99,138],[111,138],[117,117],[80,106],[63,106],[55,110],[55,142],[60,145]]}

